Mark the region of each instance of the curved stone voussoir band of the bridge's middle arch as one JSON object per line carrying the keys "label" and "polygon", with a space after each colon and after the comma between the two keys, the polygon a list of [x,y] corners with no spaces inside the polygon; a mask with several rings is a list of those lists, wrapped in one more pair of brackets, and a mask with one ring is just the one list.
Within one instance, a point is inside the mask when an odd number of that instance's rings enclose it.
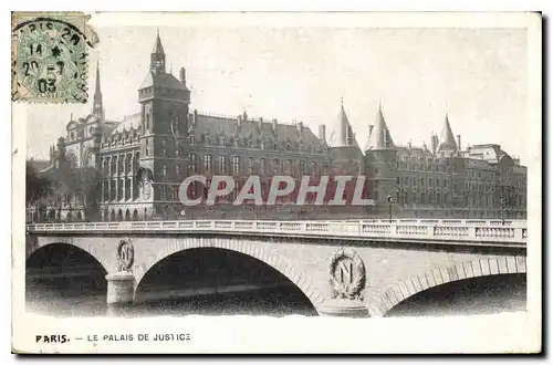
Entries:
{"label": "curved stone voussoir band of the bridge's middle arch", "polygon": [[173,244],[165,247],[156,255],[145,261],[142,265],[134,270],[135,277],[135,291],[138,289],[140,281],[144,279],[146,273],[163,259],[185,250],[201,249],[201,248],[215,248],[239,252],[257,259],[274,270],[283,274],[288,280],[290,280],[294,285],[296,285],[302,293],[310,300],[311,304],[319,309],[319,305],[324,300],[322,293],[313,284],[313,281],[293,268],[288,259],[282,255],[268,252],[254,242],[244,242],[236,239],[221,239],[221,238],[187,238],[185,240],[179,240]]}

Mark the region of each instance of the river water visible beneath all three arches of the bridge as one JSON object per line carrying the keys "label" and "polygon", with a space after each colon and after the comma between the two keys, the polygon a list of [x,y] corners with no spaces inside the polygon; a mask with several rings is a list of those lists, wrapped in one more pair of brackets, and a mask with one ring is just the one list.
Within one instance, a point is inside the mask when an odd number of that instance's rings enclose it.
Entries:
{"label": "river water visible beneath all three arches of the bridge", "polygon": [[[157,316],[157,315],[316,315],[295,288],[275,285],[257,288],[237,285],[223,290],[163,289],[146,293],[146,302],[127,307],[106,304],[105,291],[94,288],[75,290],[29,283],[27,310],[36,314],[61,317],[79,316]],[[497,277],[482,282],[460,282],[448,288],[435,288],[404,301],[387,316],[438,316],[490,314],[525,310],[525,279],[520,275]],[[204,292],[204,293],[202,293]],[[196,294],[194,294],[196,293]]]}

